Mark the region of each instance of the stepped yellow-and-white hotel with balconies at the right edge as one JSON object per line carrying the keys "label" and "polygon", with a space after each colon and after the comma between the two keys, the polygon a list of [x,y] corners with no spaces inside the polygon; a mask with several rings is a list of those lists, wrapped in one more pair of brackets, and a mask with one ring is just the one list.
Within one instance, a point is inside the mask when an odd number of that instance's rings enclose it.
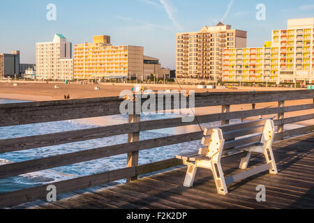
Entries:
{"label": "stepped yellow-and-white hotel with balconies at the right edge", "polygon": [[264,47],[223,50],[225,82],[307,82],[314,80],[314,18],[287,20]]}

